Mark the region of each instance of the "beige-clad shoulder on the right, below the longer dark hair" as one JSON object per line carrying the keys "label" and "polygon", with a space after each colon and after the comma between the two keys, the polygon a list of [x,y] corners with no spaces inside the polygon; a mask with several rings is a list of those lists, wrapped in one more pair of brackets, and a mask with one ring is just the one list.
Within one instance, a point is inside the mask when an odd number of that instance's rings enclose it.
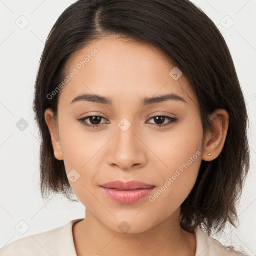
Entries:
{"label": "beige-clad shoulder on the right, below the longer dark hair", "polygon": [[246,256],[242,252],[227,248],[218,240],[206,235],[201,229],[195,229],[196,253],[195,256]]}

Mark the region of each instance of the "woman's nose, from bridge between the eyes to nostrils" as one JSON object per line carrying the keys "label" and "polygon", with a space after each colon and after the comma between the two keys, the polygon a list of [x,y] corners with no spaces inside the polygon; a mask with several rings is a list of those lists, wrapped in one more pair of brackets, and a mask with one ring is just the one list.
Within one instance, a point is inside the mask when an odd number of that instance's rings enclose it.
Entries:
{"label": "woman's nose, from bridge between the eyes to nostrils", "polygon": [[[124,126],[127,125],[124,122]],[[127,128],[127,127],[126,127]],[[128,171],[146,164],[145,138],[131,125],[128,129],[122,123],[116,128],[116,135],[110,141],[107,161],[109,165]]]}

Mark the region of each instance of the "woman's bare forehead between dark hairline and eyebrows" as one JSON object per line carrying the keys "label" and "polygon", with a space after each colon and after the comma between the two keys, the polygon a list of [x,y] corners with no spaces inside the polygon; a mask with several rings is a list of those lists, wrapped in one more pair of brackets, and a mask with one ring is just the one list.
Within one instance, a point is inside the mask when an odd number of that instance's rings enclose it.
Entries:
{"label": "woman's bare forehead between dark hairline and eyebrows", "polygon": [[195,101],[184,75],[173,78],[173,72],[180,74],[176,68],[151,45],[112,37],[94,40],[69,59],[66,75],[73,75],[61,97],[71,103],[81,93],[128,100],[172,92]]}

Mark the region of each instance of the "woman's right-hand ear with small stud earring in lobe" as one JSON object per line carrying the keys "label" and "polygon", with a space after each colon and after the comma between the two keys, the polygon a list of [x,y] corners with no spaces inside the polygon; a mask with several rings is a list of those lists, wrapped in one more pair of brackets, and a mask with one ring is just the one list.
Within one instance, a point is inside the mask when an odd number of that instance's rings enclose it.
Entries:
{"label": "woman's right-hand ear with small stud earring in lobe", "polygon": [[[217,109],[210,116],[214,123],[213,131],[205,135],[202,159],[212,161],[221,153],[228,130],[229,114],[225,109]],[[210,153],[210,156],[208,155]]]}

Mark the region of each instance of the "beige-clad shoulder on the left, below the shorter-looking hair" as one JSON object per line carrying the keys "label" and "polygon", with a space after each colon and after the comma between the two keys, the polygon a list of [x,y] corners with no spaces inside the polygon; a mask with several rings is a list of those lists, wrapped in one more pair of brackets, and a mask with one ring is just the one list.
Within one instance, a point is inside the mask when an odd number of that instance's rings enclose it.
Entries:
{"label": "beige-clad shoulder on the left, below the shorter-looking hair", "polygon": [[64,248],[63,244],[72,251],[72,225],[75,221],[13,241],[0,249],[0,256],[59,256]]}

